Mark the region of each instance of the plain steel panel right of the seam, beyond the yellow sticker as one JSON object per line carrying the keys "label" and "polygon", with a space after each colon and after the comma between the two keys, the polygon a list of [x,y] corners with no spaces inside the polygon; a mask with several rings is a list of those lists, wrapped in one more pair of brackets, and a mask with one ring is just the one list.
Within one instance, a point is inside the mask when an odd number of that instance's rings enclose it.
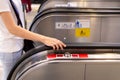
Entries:
{"label": "plain steel panel right of the seam, beyond the yellow sticker", "polygon": [[110,43],[120,43],[120,16],[103,17],[101,41]]}

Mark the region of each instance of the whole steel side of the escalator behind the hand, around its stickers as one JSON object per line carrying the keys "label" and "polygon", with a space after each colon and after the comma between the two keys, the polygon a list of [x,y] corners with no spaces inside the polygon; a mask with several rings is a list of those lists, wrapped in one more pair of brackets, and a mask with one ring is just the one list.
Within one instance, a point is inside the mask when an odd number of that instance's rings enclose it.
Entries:
{"label": "whole steel side of the escalator behind the hand, around its stickers", "polygon": [[[75,29],[56,29],[57,22],[90,20],[90,37],[76,37]],[[49,15],[39,19],[32,31],[50,37],[56,37],[65,43],[107,42],[120,43],[120,15]],[[36,43],[40,44],[40,43]]]}

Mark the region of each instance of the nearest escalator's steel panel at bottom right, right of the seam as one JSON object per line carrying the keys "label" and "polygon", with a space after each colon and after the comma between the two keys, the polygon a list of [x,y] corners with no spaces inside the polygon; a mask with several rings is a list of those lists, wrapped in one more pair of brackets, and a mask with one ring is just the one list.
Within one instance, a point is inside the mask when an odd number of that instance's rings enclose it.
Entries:
{"label": "nearest escalator's steel panel at bottom right, right of the seam", "polygon": [[120,63],[89,63],[86,65],[85,80],[120,80]]}

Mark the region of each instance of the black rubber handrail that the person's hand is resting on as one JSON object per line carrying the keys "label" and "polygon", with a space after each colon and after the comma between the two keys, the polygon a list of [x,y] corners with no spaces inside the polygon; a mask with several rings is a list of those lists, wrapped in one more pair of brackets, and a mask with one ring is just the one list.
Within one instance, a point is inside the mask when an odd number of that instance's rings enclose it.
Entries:
{"label": "black rubber handrail that the person's hand is resting on", "polygon": [[[80,43],[80,44],[67,44],[67,47],[64,49],[120,49],[120,44],[113,44],[113,43]],[[16,68],[22,63],[25,59],[31,57],[34,54],[37,54],[38,52],[46,51],[46,50],[52,50],[52,47],[48,46],[39,46],[34,49],[31,49],[30,51],[26,52],[21,58],[17,61],[15,66],[10,71],[7,80],[11,80],[14,71]]]}

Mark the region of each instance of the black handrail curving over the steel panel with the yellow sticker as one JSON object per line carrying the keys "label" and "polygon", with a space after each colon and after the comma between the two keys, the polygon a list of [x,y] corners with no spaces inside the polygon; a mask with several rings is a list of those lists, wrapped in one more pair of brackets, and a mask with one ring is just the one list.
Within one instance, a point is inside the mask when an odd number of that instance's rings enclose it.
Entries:
{"label": "black handrail curving over the steel panel with the yellow sticker", "polygon": [[43,10],[42,12],[39,12],[35,18],[33,19],[33,22],[29,28],[29,30],[31,31],[32,26],[34,25],[34,23],[41,17],[48,15],[48,14],[52,14],[52,13],[96,13],[96,14],[120,14],[119,12],[106,12],[106,11],[99,11],[99,10],[120,10],[119,8],[64,8],[64,7],[58,7],[58,8],[48,8]]}

